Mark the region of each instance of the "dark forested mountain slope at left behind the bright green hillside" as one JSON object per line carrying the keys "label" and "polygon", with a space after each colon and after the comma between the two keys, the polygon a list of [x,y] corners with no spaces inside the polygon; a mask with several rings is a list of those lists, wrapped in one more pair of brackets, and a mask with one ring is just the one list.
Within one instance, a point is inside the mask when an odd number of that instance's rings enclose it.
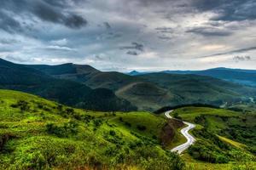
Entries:
{"label": "dark forested mountain slope at left behind the bright green hillside", "polygon": [[[48,70],[50,73],[70,72],[70,66],[61,65],[60,69]],[[32,66],[33,67],[33,66]],[[69,80],[50,77],[42,71],[17,65],[0,59],[0,88],[14,89],[26,93],[37,94],[47,99],[53,99],[62,104],[96,110],[96,111],[134,111],[136,110],[125,99],[119,99],[106,88],[91,89],[86,85]],[[42,65],[38,67],[43,68]],[[45,67],[44,67],[45,68]]]}

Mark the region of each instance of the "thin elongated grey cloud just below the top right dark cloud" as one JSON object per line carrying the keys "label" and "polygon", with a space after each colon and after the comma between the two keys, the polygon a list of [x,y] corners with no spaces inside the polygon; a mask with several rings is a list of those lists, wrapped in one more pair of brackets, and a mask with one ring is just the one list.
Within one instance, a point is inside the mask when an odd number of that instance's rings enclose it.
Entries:
{"label": "thin elongated grey cloud just below the top right dark cloud", "polygon": [[202,36],[230,36],[232,31],[227,31],[224,29],[219,29],[217,27],[210,27],[210,26],[201,26],[189,29],[187,32],[192,32],[195,34],[200,34]]}

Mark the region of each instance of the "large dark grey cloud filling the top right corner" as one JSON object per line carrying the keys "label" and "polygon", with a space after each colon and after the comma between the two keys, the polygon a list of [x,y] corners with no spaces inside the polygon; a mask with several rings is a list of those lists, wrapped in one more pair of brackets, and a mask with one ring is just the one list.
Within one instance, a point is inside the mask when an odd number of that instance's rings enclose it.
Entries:
{"label": "large dark grey cloud filling the top right corner", "polygon": [[213,11],[218,14],[212,20],[255,20],[254,0],[193,0],[193,6],[200,11]]}

